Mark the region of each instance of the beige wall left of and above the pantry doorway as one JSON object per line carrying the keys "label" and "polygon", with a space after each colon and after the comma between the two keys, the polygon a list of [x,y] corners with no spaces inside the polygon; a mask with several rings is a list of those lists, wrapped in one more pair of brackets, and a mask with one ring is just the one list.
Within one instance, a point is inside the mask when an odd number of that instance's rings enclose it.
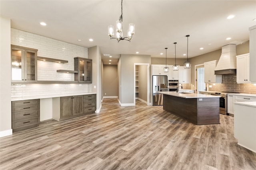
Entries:
{"label": "beige wall left of and above the pantry doorway", "polygon": [[[120,59],[120,102],[132,106],[134,104],[134,63],[151,64],[150,55],[121,55]],[[135,104],[134,104],[135,105]]]}

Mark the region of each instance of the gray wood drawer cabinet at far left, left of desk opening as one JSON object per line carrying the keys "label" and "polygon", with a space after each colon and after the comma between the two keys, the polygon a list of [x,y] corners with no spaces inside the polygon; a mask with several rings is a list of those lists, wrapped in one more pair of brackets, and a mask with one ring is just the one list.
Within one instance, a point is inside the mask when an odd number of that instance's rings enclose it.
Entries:
{"label": "gray wood drawer cabinet at far left, left of desk opening", "polygon": [[12,101],[12,131],[21,131],[40,123],[40,99]]}

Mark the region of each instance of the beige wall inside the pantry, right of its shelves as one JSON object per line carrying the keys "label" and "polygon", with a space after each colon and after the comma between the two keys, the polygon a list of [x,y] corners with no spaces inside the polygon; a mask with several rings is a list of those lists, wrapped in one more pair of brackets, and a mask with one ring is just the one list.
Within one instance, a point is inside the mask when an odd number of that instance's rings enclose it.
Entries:
{"label": "beige wall inside the pantry, right of its shelves", "polygon": [[138,65],[138,86],[139,93],[138,98],[147,101],[147,66],[146,65]]}

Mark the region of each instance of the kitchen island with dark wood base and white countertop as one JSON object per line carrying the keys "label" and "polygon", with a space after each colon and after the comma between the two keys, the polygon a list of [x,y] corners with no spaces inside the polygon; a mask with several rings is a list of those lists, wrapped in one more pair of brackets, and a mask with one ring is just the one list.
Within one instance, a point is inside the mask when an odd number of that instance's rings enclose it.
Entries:
{"label": "kitchen island with dark wood base and white countertop", "polygon": [[220,96],[195,93],[159,93],[164,94],[163,108],[165,111],[196,125],[220,123]]}

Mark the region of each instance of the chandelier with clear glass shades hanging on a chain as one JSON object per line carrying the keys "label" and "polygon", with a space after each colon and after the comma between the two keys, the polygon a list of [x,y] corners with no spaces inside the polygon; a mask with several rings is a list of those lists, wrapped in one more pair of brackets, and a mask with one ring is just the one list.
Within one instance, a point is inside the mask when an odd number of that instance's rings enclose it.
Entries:
{"label": "chandelier with clear glass shades hanging on a chain", "polygon": [[121,16],[119,17],[119,20],[116,21],[116,37],[113,37],[113,35],[114,35],[114,26],[112,26],[112,25],[108,26],[108,35],[110,36],[110,39],[112,39],[112,38],[117,39],[118,43],[121,40],[131,41],[132,35],[134,35],[135,24],[130,23],[129,24],[129,29],[127,31],[127,37],[123,36],[122,22],[123,22],[123,0],[121,2]]}

